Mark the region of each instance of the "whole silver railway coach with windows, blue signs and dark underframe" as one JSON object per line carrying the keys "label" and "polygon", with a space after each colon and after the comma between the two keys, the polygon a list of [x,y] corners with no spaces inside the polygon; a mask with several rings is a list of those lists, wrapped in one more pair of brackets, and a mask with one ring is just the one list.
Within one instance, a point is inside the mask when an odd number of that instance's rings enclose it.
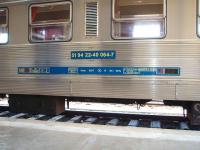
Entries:
{"label": "whole silver railway coach with windows, blue signs and dark underframe", "polygon": [[199,37],[199,0],[1,0],[0,93],[50,114],[162,100],[200,125]]}

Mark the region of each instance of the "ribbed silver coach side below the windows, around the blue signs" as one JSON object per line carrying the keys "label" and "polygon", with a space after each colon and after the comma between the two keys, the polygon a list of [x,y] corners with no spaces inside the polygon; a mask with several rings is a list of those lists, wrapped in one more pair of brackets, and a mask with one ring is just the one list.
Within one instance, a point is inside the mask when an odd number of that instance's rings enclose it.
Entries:
{"label": "ribbed silver coach side below the windows, around the blue signs", "polygon": [[[71,51],[77,49],[114,49],[117,58],[71,60]],[[200,43],[190,41],[1,46],[0,93],[200,100],[199,49]],[[181,76],[18,75],[20,66],[176,66]]]}

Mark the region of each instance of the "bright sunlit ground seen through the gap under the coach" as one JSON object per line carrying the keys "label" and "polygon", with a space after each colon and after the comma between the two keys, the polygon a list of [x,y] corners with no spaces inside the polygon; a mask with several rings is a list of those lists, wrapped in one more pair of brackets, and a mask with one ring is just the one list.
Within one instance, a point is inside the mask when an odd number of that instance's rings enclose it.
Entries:
{"label": "bright sunlit ground seen through the gap under the coach", "polygon": [[[8,106],[8,100],[0,99],[0,106]],[[140,107],[140,109],[137,108],[136,104],[124,105],[108,103],[70,102],[70,110],[183,116],[182,107],[164,106],[161,105],[160,102],[145,105],[143,107]]]}

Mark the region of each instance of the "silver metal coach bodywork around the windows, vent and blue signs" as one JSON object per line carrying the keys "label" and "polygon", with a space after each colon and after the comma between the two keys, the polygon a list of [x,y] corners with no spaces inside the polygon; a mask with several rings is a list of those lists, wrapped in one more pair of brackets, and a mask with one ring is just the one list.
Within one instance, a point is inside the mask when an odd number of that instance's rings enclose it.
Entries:
{"label": "silver metal coach bodywork around the windows, vent and blue signs", "polygon": [[[0,93],[123,99],[200,100],[200,39],[196,0],[167,0],[166,37],[114,40],[111,0],[99,0],[98,37],[85,36],[85,2],[72,0],[69,42],[30,43],[29,5],[1,1],[9,9],[9,42],[0,46]],[[49,1],[48,1],[49,2]],[[115,60],[71,60],[73,50],[115,50]],[[20,75],[20,66],[180,67],[180,76]]]}

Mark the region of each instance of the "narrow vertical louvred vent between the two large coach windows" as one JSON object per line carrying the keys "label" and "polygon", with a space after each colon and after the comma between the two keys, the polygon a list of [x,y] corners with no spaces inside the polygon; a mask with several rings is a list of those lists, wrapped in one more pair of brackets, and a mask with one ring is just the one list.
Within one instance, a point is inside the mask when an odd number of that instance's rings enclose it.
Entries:
{"label": "narrow vertical louvred vent between the two large coach windows", "polygon": [[98,35],[98,2],[86,2],[85,8],[85,35]]}

